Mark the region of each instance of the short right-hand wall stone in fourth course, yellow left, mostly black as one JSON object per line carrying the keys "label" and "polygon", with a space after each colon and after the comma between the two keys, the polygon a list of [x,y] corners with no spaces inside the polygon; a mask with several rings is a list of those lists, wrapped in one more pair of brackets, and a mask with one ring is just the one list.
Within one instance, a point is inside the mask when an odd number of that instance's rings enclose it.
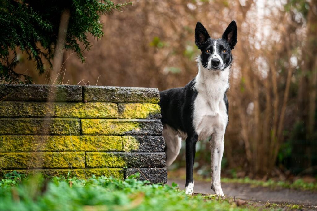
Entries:
{"label": "short right-hand wall stone in fourth course, yellow left, mostly black", "polygon": [[122,151],[125,152],[163,152],[164,149],[162,136],[122,136]]}

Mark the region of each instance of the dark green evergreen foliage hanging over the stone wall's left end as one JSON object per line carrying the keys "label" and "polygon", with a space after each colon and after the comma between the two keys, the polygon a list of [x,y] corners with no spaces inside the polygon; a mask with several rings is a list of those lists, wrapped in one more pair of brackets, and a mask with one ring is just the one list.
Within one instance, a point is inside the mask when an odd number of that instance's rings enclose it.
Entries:
{"label": "dark green evergreen foliage hanging over the stone wall's left end", "polygon": [[57,42],[61,13],[70,10],[65,49],[76,52],[84,62],[83,51],[91,47],[87,35],[99,39],[104,33],[100,15],[120,11],[131,3],[114,4],[110,0],[1,0],[0,1],[0,77],[19,76],[17,51],[26,52],[36,62],[39,74],[43,62],[51,59]]}

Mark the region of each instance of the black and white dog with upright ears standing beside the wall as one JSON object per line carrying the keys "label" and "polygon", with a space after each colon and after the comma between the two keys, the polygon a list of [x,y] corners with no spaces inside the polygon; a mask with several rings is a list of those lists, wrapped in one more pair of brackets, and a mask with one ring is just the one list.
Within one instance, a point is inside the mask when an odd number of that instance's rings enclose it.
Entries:
{"label": "black and white dog with upright ears standing beside the wall", "polygon": [[186,194],[193,194],[193,165],[196,142],[210,139],[211,189],[223,196],[220,185],[220,165],[223,137],[228,125],[229,70],[231,50],[237,42],[237,26],[232,21],[221,39],[210,38],[204,26],[197,22],[195,43],[201,50],[197,57],[198,74],[186,86],[160,92],[163,137],[166,142],[166,167],[179,154],[181,140],[186,140]]}

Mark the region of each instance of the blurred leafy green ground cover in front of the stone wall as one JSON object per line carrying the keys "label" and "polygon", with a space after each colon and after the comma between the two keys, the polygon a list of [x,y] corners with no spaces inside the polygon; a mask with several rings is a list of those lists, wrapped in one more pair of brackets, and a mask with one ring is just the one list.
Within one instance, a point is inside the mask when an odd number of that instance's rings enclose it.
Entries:
{"label": "blurred leafy green ground cover in front of the stone wall", "polygon": [[[0,181],[0,210],[257,210],[253,205],[237,206],[230,198],[186,195],[176,184],[150,184],[130,177],[114,178],[24,176],[15,172]],[[263,207],[261,208],[261,210]]]}

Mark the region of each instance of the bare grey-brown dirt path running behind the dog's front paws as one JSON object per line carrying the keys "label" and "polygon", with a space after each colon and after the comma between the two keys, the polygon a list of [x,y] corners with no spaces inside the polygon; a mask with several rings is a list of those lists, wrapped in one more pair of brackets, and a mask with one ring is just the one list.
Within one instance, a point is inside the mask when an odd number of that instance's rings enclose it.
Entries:
{"label": "bare grey-brown dirt path running behind the dog's front paws", "polygon": [[[185,180],[171,179],[168,183],[175,182],[179,185],[180,189],[185,188]],[[307,205],[310,208],[317,209],[317,192],[292,190],[283,188],[265,188],[265,187],[252,187],[248,184],[235,184],[223,183],[221,184],[223,193],[229,197],[236,197],[239,199],[250,201],[261,201],[269,203],[292,203]],[[214,194],[210,189],[210,182],[195,181],[194,193]]]}

